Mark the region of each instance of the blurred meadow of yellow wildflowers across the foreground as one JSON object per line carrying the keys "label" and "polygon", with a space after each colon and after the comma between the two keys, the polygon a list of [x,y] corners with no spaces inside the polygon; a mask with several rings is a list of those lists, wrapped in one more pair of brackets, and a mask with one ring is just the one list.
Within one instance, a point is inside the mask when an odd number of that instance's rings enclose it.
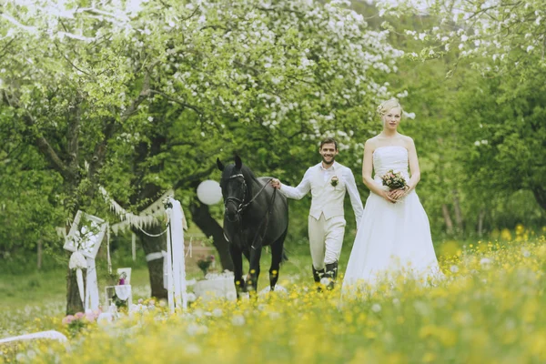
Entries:
{"label": "blurred meadow of yellow wildflowers across the foreground", "polygon": [[[449,247],[448,247],[449,248]],[[546,240],[476,242],[441,259],[434,287],[402,279],[354,300],[307,282],[238,303],[157,307],[88,324],[70,345],[5,349],[5,360],[77,363],[542,363],[546,362]],[[341,304],[342,303],[342,304]],[[7,351],[6,351],[7,350]]]}

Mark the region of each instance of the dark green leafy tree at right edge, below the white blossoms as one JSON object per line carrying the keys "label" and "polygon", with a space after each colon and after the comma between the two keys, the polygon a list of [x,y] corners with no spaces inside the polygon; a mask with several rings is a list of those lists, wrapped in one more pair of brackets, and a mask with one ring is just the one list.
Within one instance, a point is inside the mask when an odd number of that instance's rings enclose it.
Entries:
{"label": "dark green leafy tree at right edge, below the white blossoms", "polygon": [[492,194],[530,190],[542,209],[546,209],[546,159],[541,153],[546,147],[545,81],[541,73],[484,79],[468,96],[460,97],[458,120],[469,151],[465,171],[472,184]]}

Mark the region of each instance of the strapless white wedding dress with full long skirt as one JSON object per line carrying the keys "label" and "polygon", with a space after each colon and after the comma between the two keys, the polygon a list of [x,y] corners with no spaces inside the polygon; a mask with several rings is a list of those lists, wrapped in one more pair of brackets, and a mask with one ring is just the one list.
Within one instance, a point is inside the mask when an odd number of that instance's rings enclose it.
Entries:
{"label": "strapless white wedding dress with full long skirt", "polygon": [[[373,153],[374,180],[393,169],[407,181],[408,150],[378,147]],[[383,187],[388,189],[388,187]],[[350,253],[342,291],[361,290],[397,275],[440,278],[438,260],[430,238],[429,217],[412,190],[397,203],[371,192]]]}

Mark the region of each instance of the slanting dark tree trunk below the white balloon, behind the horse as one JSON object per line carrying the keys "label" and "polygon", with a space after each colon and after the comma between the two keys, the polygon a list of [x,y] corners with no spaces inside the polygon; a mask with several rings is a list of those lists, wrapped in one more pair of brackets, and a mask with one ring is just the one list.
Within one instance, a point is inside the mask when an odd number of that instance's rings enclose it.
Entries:
{"label": "slanting dark tree trunk below the white balloon, behind the horse", "polygon": [[189,209],[191,211],[192,219],[196,223],[197,227],[199,227],[207,237],[213,238],[213,245],[217,249],[218,255],[220,256],[222,268],[224,270],[227,269],[233,271],[233,262],[231,261],[231,256],[229,255],[229,243],[224,237],[224,229],[220,227],[217,220],[210,216],[208,206],[199,203],[196,198]]}

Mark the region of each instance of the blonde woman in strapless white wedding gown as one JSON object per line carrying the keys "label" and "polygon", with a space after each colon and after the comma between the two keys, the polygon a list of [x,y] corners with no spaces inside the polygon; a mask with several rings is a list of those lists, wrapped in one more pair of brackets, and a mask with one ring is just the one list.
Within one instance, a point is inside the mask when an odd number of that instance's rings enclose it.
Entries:
{"label": "blonde woman in strapless white wedding gown", "polygon": [[[420,181],[415,145],[410,136],[397,131],[402,107],[390,99],[378,107],[378,113],[383,131],[364,146],[362,178],[371,193],[350,253],[344,292],[400,273],[414,278],[440,275],[429,218],[415,193]],[[375,177],[371,176],[372,168]],[[382,185],[381,177],[391,169],[404,177],[405,187],[389,191]]]}

